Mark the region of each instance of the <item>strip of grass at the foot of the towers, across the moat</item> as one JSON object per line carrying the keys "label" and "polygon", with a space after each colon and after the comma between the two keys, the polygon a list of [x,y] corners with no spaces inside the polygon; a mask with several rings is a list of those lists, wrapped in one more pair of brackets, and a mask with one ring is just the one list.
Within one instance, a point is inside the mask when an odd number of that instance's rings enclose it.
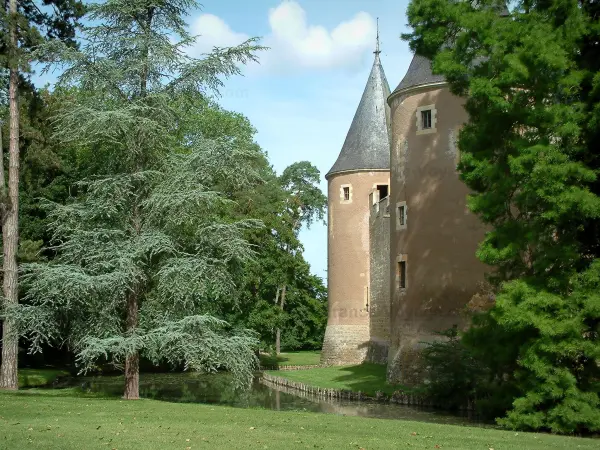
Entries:
{"label": "strip of grass at the foot of the towers, across the moat", "polygon": [[268,373],[313,387],[361,391],[370,396],[375,396],[377,391],[391,395],[394,391],[403,389],[400,385],[388,384],[385,381],[385,372],[384,365],[364,363],[356,366],[319,367],[293,372]]}

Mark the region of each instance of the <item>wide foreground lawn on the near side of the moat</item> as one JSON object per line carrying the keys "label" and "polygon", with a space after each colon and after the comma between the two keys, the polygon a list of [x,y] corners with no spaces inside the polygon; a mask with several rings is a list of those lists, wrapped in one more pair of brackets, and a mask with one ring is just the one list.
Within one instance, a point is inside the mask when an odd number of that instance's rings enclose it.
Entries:
{"label": "wide foreground lawn on the near side of the moat", "polygon": [[[0,392],[6,449],[597,450],[599,440],[400,420],[80,397],[74,390]],[[439,446],[439,447],[436,447]]]}

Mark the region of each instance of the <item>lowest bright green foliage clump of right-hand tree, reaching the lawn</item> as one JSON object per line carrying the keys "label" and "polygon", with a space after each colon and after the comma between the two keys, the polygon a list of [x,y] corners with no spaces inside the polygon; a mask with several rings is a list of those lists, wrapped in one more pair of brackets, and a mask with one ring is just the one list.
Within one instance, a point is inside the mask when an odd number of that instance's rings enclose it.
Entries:
{"label": "lowest bright green foliage clump of right-hand tree, reaching the lawn", "polygon": [[516,374],[526,393],[500,423],[562,433],[600,430],[600,260],[574,279],[569,296],[525,280],[507,284],[492,315],[531,336],[521,342]]}

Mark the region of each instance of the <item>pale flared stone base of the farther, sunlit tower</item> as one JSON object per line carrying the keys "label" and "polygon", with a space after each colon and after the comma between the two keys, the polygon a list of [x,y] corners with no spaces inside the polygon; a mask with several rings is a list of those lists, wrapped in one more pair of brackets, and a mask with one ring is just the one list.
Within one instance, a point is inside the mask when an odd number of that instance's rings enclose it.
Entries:
{"label": "pale flared stone base of the farther, sunlit tower", "polygon": [[369,325],[327,325],[321,364],[342,366],[363,363],[369,339]]}

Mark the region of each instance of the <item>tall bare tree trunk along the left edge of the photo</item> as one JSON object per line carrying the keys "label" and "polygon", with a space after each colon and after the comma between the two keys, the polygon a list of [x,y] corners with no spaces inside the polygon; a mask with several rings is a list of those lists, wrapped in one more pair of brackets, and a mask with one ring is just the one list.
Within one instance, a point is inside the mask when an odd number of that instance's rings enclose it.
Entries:
{"label": "tall bare tree trunk along the left edge of the photo", "polygon": [[[8,164],[8,198],[2,217],[2,244],[4,252],[4,306],[13,307],[19,302],[17,251],[19,249],[19,84],[17,64],[17,0],[9,3],[9,59],[10,80],[8,88],[10,109],[10,143]],[[3,163],[3,162],[2,162]],[[4,182],[4,180],[2,180]],[[4,184],[2,185],[4,188]],[[6,197],[5,197],[6,198]],[[18,389],[17,374],[19,333],[13,320],[5,320],[2,327],[2,366],[0,389]]]}

